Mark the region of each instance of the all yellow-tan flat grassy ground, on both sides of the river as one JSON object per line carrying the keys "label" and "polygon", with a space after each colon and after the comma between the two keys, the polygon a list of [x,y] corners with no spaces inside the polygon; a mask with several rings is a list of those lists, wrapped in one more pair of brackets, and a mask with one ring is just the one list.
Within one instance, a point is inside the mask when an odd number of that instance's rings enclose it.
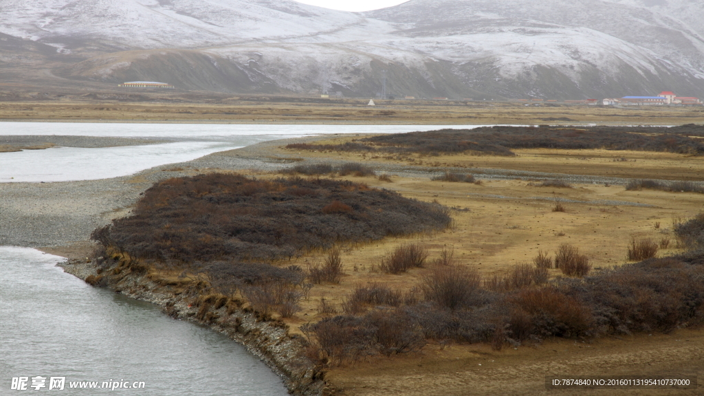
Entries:
{"label": "all yellow-tan flat grassy ground, on both sides of the river", "polygon": [[[228,99],[218,99],[227,101]],[[332,101],[331,101],[332,102]],[[393,112],[393,113],[390,113]],[[5,101],[4,120],[113,120],[232,123],[447,123],[447,124],[613,124],[681,125],[704,122],[700,108],[615,109],[601,106],[532,106],[522,104],[425,103],[366,106],[365,101],[334,103],[268,102],[232,99],[228,103],[126,103],[124,101]],[[363,136],[320,137],[337,144]],[[310,139],[306,140],[310,142]],[[342,313],[349,293],[360,285],[386,285],[410,292],[430,271],[413,268],[398,275],[379,271],[394,248],[417,243],[429,261],[442,249],[453,249],[458,266],[475,269],[482,278],[503,276],[539,252],[554,256],[563,243],[579,248],[593,272],[627,264],[633,239],[663,242],[658,256],[678,254],[673,225],[704,210],[704,194],[660,190],[626,190],[630,179],[701,181],[704,161],[689,154],[606,149],[515,149],[516,156],[469,154],[374,155],[287,149],[261,145],[212,154],[210,159],[247,156],[272,163],[362,163],[376,176],[320,178],[363,182],[395,190],[404,197],[439,202],[451,208],[453,226],[435,233],[343,246],[344,276],[322,283],[301,302],[302,310],[284,318],[291,333],[300,326]],[[199,160],[196,160],[199,161]],[[216,162],[216,161],[215,161]],[[203,168],[203,166],[198,166]],[[198,173],[180,165],[174,175]],[[480,183],[433,181],[444,171],[471,173]],[[237,172],[263,180],[283,175],[272,171],[211,166],[208,172]],[[388,178],[379,179],[385,174]],[[172,175],[172,173],[169,173]],[[141,175],[129,183],[142,183]],[[127,178],[129,179],[129,178]],[[570,187],[541,187],[543,180],[565,180]],[[144,184],[146,188],[147,185]],[[553,211],[557,203],[565,211]],[[129,209],[129,208],[126,208]],[[121,212],[126,214],[126,211]],[[61,248],[52,252],[61,252]],[[79,252],[82,256],[83,251]],[[77,254],[77,253],[76,253]],[[310,252],[279,263],[306,268],[325,260],[327,252]],[[161,273],[170,277],[175,274]],[[560,278],[557,269],[551,279]],[[325,301],[327,311],[321,309]],[[326,379],[341,395],[572,395],[547,390],[551,375],[696,375],[704,378],[704,332],[680,328],[670,333],[601,335],[597,338],[546,338],[506,346],[429,340],[418,352],[370,356],[333,364]],[[582,390],[584,395],[699,395],[698,390]]]}

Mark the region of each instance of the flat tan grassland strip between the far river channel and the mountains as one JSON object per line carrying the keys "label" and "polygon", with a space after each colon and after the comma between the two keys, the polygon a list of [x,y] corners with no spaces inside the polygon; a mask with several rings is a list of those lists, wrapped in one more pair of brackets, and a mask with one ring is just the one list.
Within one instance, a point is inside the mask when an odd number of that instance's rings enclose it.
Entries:
{"label": "flat tan grassland strip between the far river channel and the mountains", "polygon": [[[120,92],[107,97],[127,97]],[[524,106],[479,101],[377,101],[367,99],[222,97],[187,102],[187,95],[146,94],[140,101],[59,100],[0,101],[0,120],[114,120],[218,123],[389,123],[389,124],[583,124],[677,125],[703,123],[701,107],[655,109],[641,106]]]}

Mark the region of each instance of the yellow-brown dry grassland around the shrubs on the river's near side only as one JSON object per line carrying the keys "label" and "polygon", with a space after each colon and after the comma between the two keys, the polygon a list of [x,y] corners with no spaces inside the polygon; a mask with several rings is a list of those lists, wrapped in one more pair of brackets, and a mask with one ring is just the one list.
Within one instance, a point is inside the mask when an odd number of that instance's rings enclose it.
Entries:
{"label": "yellow-brown dry grassland around the shrubs on the river's near side only", "polygon": [[[338,141],[339,142],[339,141]],[[608,175],[639,178],[701,179],[704,161],[698,157],[639,151],[603,150],[516,150],[515,158],[491,156],[440,156],[422,161],[440,166],[494,167],[532,171]],[[280,149],[280,154],[298,155]],[[367,163],[404,163],[393,159],[372,159],[347,153],[301,153],[315,159],[350,159]],[[625,158],[629,161],[613,161]],[[421,159],[410,161],[417,163]],[[427,165],[427,163],[424,163]],[[269,177],[258,175],[259,177]],[[287,323],[296,327],[314,323],[330,314],[320,314],[320,301],[341,313],[344,297],[356,285],[382,283],[398,290],[410,290],[420,283],[427,268],[415,268],[401,275],[377,271],[382,258],[394,247],[417,242],[427,247],[429,259],[439,256],[443,247],[453,247],[455,260],[476,268],[482,277],[508,273],[516,264],[532,263],[539,251],[554,256],[558,245],[569,242],[589,257],[598,271],[627,262],[632,238],[672,241],[659,256],[679,252],[672,224],[704,210],[704,195],[662,191],[626,191],[620,185],[574,185],[573,188],[536,187],[524,180],[484,180],[481,185],[465,182],[430,181],[429,178],[402,178],[391,182],[377,178],[348,178],[401,192],[423,201],[436,199],[453,208],[453,228],[434,235],[387,239],[344,249],[343,276],[339,284],[316,285],[303,311]],[[565,212],[553,212],[551,199],[580,202],[611,200],[646,204],[629,206],[563,202]],[[325,254],[313,254],[291,264],[305,266],[320,262]],[[287,263],[288,264],[288,263]],[[551,269],[551,277],[561,276]],[[670,335],[636,334],[596,340],[544,340],[536,345],[496,352],[489,345],[439,345],[434,342],[422,352],[372,357],[356,364],[330,369],[327,379],[344,395],[570,395],[572,392],[546,390],[548,375],[704,375],[704,333],[676,330]],[[697,390],[580,391],[580,395],[698,395]]]}

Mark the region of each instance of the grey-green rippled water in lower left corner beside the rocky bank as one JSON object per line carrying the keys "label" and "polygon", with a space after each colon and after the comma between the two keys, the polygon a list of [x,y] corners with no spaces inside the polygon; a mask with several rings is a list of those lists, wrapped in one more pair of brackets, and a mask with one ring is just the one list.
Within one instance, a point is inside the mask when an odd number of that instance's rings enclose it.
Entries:
{"label": "grey-green rippled water in lower left corner beside the rocky bank", "polygon": [[86,285],[54,266],[59,260],[0,246],[0,395],[19,376],[65,376],[66,390],[70,381],[146,385],[67,395],[287,395],[282,380],[236,342]]}

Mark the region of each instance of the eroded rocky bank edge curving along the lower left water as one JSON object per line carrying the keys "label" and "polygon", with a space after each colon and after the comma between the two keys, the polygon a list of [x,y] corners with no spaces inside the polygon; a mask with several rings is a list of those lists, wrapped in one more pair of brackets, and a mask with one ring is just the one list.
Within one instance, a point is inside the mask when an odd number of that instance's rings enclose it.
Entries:
{"label": "eroded rocky bank edge curving along the lower left water", "polygon": [[334,393],[323,379],[325,373],[305,357],[306,341],[300,336],[289,335],[288,327],[282,321],[243,307],[236,300],[223,301],[227,297],[174,292],[168,283],[133,271],[125,259],[70,259],[58,266],[91,285],[108,287],[127,297],[151,302],[172,318],[208,326],[227,335],[283,378],[292,395]]}

